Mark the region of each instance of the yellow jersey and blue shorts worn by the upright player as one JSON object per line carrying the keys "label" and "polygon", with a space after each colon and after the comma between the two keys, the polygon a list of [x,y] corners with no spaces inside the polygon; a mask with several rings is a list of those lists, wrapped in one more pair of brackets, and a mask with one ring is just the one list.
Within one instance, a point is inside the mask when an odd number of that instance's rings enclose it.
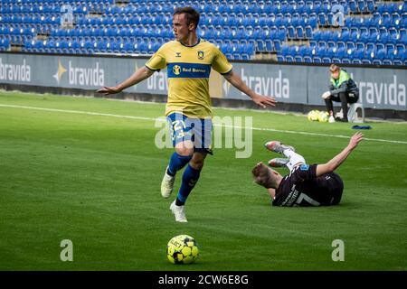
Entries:
{"label": "yellow jersey and blue shorts worn by the upright player", "polygon": [[213,43],[199,40],[193,46],[166,42],[147,61],[146,67],[149,70],[167,68],[166,117],[172,128],[174,146],[191,140],[195,151],[211,154],[213,114],[209,75],[211,68],[221,74],[229,73],[232,64]]}

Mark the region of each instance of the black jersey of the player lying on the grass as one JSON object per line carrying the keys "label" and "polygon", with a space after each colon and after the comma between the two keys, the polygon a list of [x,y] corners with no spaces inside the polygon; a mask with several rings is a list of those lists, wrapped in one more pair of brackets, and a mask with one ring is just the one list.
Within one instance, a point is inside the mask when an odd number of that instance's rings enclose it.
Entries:
{"label": "black jersey of the player lying on the grass", "polygon": [[316,176],[317,164],[294,168],[279,183],[273,206],[331,206],[341,200],[344,183],[335,172]]}

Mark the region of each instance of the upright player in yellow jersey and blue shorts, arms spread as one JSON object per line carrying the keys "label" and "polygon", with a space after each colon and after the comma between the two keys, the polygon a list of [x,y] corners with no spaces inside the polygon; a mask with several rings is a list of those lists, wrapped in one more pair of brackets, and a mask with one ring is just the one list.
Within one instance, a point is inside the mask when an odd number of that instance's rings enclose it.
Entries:
{"label": "upright player in yellow jersey and blue shorts, arms spread", "polygon": [[260,96],[251,90],[213,43],[199,39],[196,28],[199,13],[192,7],[176,8],[173,14],[175,41],[166,42],[130,78],[116,87],[104,87],[99,93],[114,94],[149,78],[157,70],[167,69],[168,100],[166,117],[172,128],[175,153],[172,154],[161,183],[161,194],[173,191],[175,173],[185,167],[182,184],[170,206],[178,222],[186,222],[185,201],[194,189],[207,154],[212,154],[212,109],[209,96],[211,68],[218,71],[236,89],[248,95],[260,107],[274,107],[275,98]]}

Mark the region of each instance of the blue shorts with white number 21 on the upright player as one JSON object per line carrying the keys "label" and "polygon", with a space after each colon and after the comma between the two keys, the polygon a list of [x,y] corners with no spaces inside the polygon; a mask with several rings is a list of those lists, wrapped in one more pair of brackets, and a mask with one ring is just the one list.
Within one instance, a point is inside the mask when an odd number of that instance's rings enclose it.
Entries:
{"label": "blue shorts with white number 21 on the upright player", "polygon": [[213,154],[212,119],[186,117],[177,112],[166,117],[171,128],[173,146],[185,141],[194,143],[194,152]]}

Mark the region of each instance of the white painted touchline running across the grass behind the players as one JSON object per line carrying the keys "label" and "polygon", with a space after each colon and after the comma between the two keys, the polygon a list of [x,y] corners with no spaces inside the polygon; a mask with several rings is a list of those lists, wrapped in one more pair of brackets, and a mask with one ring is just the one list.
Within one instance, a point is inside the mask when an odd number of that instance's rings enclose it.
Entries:
{"label": "white painted touchline running across the grass behind the players", "polygon": [[[81,111],[81,110],[69,110],[69,109],[57,109],[57,108],[46,108],[46,107],[26,107],[26,106],[15,106],[15,105],[4,105],[0,104],[0,107],[11,107],[11,108],[24,108],[24,109],[33,109],[33,110],[43,110],[43,111],[52,111],[52,112],[63,112],[63,113],[70,113],[70,114],[80,114],[80,115],[89,115],[89,116],[100,116],[100,117],[118,117],[118,118],[129,118],[129,119],[137,119],[137,120],[151,120],[156,121],[156,118],[152,117],[133,117],[133,116],[123,116],[123,115],[113,115],[113,114],[104,114],[99,112],[91,112],[91,111]],[[165,119],[159,119],[159,121],[165,122]],[[241,129],[246,129],[245,126],[226,126],[226,125],[217,125],[213,124],[213,126],[224,126],[224,127],[236,127]],[[286,134],[296,134],[296,135],[316,135],[316,136],[329,136],[329,137],[336,137],[336,138],[350,138],[348,135],[327,135],[327,134],[318,134],[318,133],[309,133],[309,132],[301,132],[301,131],[292,131],[292,130],[281,130],[281,129],[274,129],[274,128],[262,128],[262,127],[251,127],[253,130],[259,131],[268,131],[268,132],[276,132],[276,133],[286,133]],[[367,141],[374,141],[374,142],[383,142],[383,143],[392,143],[392,144],[407,144],[407,142],[403,141],[393,141],[388,139],[382,138],[364,138]]]}

